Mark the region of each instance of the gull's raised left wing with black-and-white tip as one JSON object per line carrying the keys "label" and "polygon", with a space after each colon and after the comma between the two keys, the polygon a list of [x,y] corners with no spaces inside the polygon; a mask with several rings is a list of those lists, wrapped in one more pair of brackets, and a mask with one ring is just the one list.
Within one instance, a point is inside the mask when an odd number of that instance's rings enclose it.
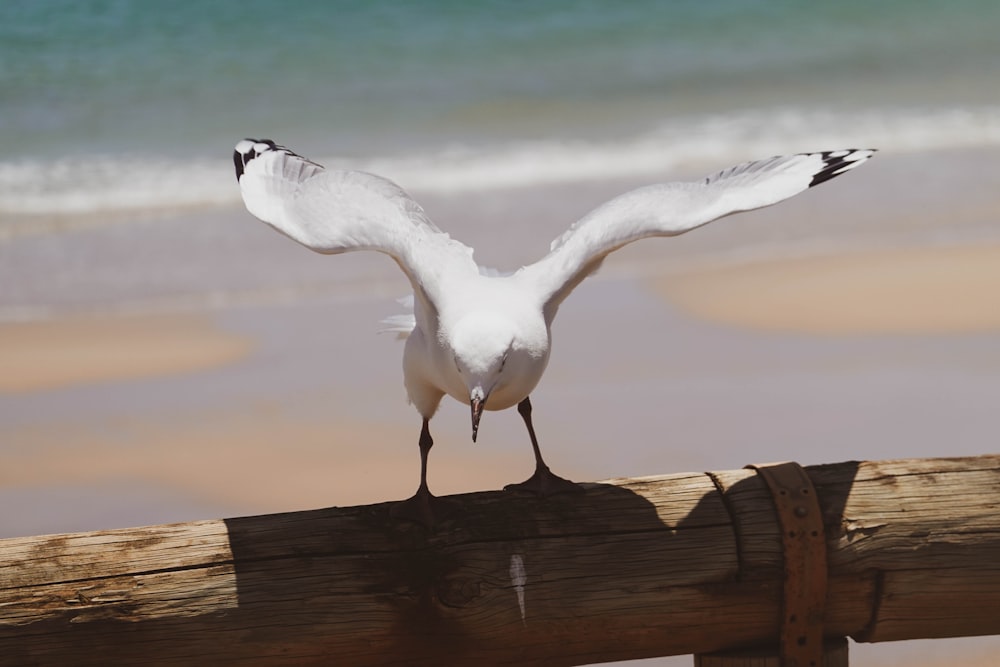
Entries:
{"label": "gull's raised left wing with black-and-white tip", "polygon": [[472,250],[448,237],[398,185],[360,171],[327,170],[270,139],[233,152],[247,210],[317,252],[375,250],[399,264],[432,306],[446,273],[478,271]]}

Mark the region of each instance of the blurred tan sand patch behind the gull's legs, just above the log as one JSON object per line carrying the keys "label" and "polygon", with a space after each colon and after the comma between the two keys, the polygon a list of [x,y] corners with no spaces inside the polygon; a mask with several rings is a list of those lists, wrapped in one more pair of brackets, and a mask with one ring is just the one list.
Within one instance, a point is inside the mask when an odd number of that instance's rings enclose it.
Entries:
{"label": "blurred tan sand patch behind the gull's legs, just above the log", "polygon": [[[138,480],[252,514],[397,500],[419,481],[414,428],[293,417],[279,406],[118,421],[103,429],[36,426],[11,435],[19,446],[5,456],[4,488],[113,488]],[[444,449],[434,451],[429,473],[439,494],[496,489],[530,472],[527,458],[510,450]]]}

